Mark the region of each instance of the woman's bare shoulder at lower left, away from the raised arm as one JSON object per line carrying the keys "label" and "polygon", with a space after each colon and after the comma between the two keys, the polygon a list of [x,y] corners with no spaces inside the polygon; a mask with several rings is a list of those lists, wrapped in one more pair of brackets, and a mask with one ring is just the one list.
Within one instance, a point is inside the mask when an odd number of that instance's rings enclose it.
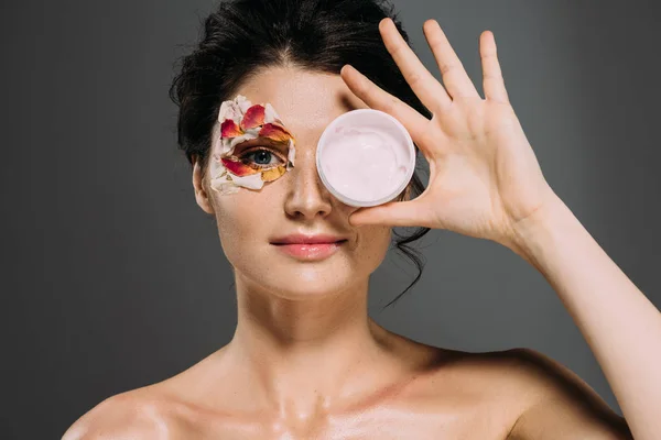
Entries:
{"label": "woman's bare shoulder at lower left, away from the raised arm", "polygon": [[121,393],[99,403],[64,433],[62,440],[177,438],[172,403],[152,387]]}

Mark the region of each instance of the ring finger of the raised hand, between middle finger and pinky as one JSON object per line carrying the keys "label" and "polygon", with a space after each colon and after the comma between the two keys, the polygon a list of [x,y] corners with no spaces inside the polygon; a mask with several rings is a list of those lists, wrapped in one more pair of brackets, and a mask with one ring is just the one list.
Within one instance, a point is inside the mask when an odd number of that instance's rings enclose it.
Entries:
{"label": "ring finger of the raised hand, between middle finger and pinky", "polygon": [[423,25],[424,36],[434,54],[443,85],[452,98],[479,98],[475,85],[464,69],[459,57],[436,20],[427,20]]}

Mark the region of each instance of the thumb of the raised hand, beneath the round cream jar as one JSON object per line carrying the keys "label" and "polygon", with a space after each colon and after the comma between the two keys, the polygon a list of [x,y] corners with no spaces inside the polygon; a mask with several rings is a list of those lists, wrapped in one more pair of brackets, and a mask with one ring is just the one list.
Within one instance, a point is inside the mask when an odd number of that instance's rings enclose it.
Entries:
{"label": "thumb of the raised hand, beneath the round cream jar", "polygon": [[424,227],[420,219],[425,217],[420,210],[421,204],[416,200],[391,201],[376,207],[360,208],[349,217],[349,223],[354,227],[366,224]]}

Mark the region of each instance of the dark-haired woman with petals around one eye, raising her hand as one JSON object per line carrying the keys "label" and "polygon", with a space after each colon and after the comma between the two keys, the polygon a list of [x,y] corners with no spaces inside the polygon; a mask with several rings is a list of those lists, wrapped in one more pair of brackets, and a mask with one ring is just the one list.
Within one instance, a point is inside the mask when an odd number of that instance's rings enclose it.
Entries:
{"label": "dark-haired woman with petals around one eye, raising her hand", "polygon": [[[658,438],[659,311],[544,180],[494,35],[479,38],[483,99],[438,24],[424,33],[444,86],[377,0],[242,0],[209,15],[172,91],[196,201],[235,273],[234,339],[108,398],[65,439]],[[316,143],[357,108],[404,124],[430,163],[422,194],[415,177],[401,200],[356,209],[325,189]],[[369,275],[395,226],[422,228],[400,240],[404,251],[437,228],[494,240],[537,267],[626,420],[532,350],[453,351],[373,322]]]}

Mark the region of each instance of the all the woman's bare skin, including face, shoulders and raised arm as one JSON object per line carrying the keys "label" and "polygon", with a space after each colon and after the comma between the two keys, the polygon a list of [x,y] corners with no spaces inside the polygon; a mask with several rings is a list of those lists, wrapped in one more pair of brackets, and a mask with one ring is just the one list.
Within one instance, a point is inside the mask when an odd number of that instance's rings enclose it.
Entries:
{"label": "all the woman's bare skin, including face, shoulders and raised arm", "polygon": [[[282,66],[247,80],[238,92],[270,102],[294,133],[296,165],[259,191],[220,196],[195,163],[196,201],[215,216],[235,271],[231,342],[172,378],[108,398],[64,440],[615,440],[633,438],[631,431],[654,438],[661,393],[647,356],[658,354],[646,346],[661,342],[658,310],[545,186],[507,102],[492,36],[480,38],[481,100],[437,24],[425,23],[425,34],[447,92],[391,22],[380,31],[434,118],[423,119],[350,68],[339,77]],[[430,161],[430,186],[416,199],[357,210],[321,184],[315,146],[323,129],[366,107],[397,117]],[[627,420],[541,353],[445,350],[376,324],[367,314],[368,282],[392,226],[490,239],[542,272],[595,351]],[[292,232],[348,241],[330,257],[302,262],[270,243]]]}

